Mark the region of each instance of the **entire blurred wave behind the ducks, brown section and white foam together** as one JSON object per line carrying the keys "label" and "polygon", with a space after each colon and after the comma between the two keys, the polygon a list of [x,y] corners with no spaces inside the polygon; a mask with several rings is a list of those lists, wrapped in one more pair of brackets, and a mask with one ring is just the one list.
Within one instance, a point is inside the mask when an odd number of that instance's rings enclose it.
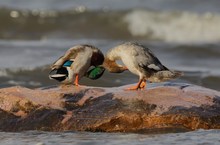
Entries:
{"label": "entire blurred wave behind the ducks, brown section and white foam together", "polygon": [[101,38],[171,43],[220,41],[220,14],[188,11],[0,8],[0,39]]}

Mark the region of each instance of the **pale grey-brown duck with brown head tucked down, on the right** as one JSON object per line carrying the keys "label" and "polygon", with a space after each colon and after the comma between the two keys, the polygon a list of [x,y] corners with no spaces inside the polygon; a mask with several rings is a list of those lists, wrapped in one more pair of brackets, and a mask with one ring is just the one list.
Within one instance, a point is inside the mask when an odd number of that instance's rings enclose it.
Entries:
{"label": "pale grey-brown duck with brown head tucked down, on the right", "polygon": [[[117,60],[121,60],[124,65],[117,64]],[[103,66],[110,73],[122,73],[129,70],[139,76],[137,85],[126,90],[143,90],[147,85],[147,80],[163,82],[183,75],[180,71],[169,70],[149,48],[137,42],[125,42],[110,49],[106,53]]]}

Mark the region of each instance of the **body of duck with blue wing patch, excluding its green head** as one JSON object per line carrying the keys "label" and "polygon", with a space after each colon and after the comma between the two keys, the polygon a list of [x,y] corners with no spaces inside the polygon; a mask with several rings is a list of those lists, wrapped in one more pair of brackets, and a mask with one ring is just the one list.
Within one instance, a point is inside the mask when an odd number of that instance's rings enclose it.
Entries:
{"label": "body of duck with blue wing patch, excluding its green head", "polygon": [[97,67],[103,62],[104,54],[97,47],[87,44],[75,45],[51,65],[51,72],[56,71],[56,74],[50,74],[49,77],[64,84],[73,83],[75,86],[79,86],[79,80],[86,76],[89,68]]}

